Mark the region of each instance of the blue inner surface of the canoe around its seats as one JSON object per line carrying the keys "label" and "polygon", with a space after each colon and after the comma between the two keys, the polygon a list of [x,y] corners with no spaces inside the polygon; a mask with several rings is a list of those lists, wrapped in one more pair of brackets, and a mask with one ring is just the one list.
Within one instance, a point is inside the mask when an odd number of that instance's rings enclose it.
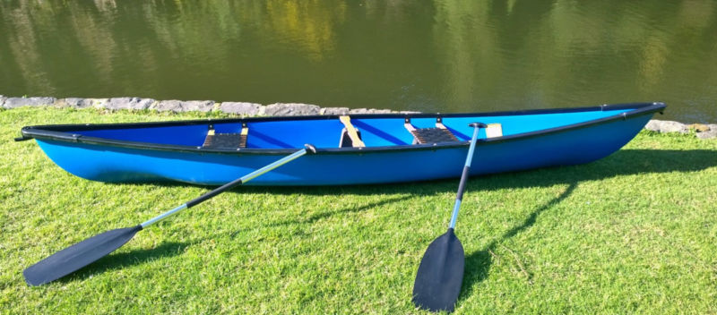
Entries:
{"label": "blue inner surface of the canoe around its seats", "polygon": [[[531,115],[480,115],[480,116],[446,116],[445,126],[454,133],[458,140],[470,140],[469,123],[500,123],[503,136],[511,136],[526,132],[561,127],[574,123],[586,123],[593,120],[620,115],[635,108],[617,108],[568,113],[545,113]],[[251,149],[295,149],[302,148],[305,143],[312,143],[316,148],[337,148],[344,125],[339,119],[301,120],[246,120],[248,127],[246,148]],[[242,129],[242,121],[212,123],[215,132],[238,133]],[[414,117],[410,121],[417,128],[435,127],[436,117]],[[406,130],[402,117],[369,117],[351,118],[351,123],[361,132],[367,147],[386,147],[410,145],[413,136]],[[113,126],[109,129],[87,130],[82,125],[76,130],[65,130],[82,136],[108,140],[128,140],[179,146],[202,146],[210,123],[195,123],[170,126],[134,125],[122,128]],[[481,130],[479,138],[485,138]]]}

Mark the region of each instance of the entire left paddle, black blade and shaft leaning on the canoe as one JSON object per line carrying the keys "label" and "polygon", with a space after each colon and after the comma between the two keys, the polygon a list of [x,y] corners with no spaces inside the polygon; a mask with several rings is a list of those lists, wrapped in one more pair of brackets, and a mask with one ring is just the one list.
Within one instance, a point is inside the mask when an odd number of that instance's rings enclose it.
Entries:
{"label": "entire left paddle, black blade and shaft leaning on the canoe", "polygon": [[151,226],[152,224],[174,215],[183,209],[192,208],[202,203],[204,200],[209,200],[221,192],[226,192],[235,186],[246,183],[257,176],[263,175],[274,168],[287,164],[290,161],[307,154],[308,152],[316,152],[314,146],[310,144],[307,144],[305,147],[305,149],[300,149],[297,152],[294,152],[285,158],[281,158],[268,166],[263,166],[248,175],[234,180],[233,182],[226,183],[212,192],[207,192],[194,200],[186,202],[175,209],[171,209],[161,214],[160,216],[153,217],[138,226],[119,228],[103,234],[97,234],[80,243],[67,247],[62,251],[57,251],[52,254],[52,256],[44,260],[40,260],[38,263],[25,269],[25,271],[22,272],[25,276],[25,281],[28,285],[44,285],[61,277],[65,277],[77,269],[85,267],[95,260],[99,260],[100,258],[107,256],[110,252],[117,250],[131,240],[134,234],[147,226]]}

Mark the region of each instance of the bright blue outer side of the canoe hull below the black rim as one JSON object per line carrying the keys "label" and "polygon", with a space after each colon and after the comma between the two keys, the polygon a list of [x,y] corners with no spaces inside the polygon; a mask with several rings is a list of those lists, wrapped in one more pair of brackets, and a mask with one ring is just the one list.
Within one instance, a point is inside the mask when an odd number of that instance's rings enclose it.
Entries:
{"label": "bright blue outer side of the canoe hull below the black rim", "polygon": [[[605,158],[632,140],[652,114],[510,140],[481,140],[477,143],[471,175],[570,166]],[[277,152],[198,152],[36,140],[48,157],[65,171],[107,183],[172,181],[220,185],[282,157]],[[459,177],[467,152],[467,143],[436,149],[320,151],[246,184],[341,185]]]}

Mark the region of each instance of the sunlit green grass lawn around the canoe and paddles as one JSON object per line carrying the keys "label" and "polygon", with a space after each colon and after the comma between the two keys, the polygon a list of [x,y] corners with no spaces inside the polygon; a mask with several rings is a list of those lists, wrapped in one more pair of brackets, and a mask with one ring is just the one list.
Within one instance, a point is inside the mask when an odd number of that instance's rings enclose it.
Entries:
{"label": "sunlit green grass lawn around the canoe and paddles", "polygon": [[[22,126],[197,116],[0,111],[0,313],[422,313],[413,279],[457,179],[239,187],[70,277],[25,284],[53,252],[209,189],[77,178],[14,142]],[[717,140],[641,132],[591,164],[472,178],[456,234],[457,314],[716,313]]]}

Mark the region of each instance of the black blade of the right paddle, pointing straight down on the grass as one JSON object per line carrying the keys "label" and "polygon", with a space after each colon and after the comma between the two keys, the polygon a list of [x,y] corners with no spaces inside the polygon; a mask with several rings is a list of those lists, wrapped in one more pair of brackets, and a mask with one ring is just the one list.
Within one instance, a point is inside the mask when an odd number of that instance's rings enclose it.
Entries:
{"label": "black blade of the right paddle, pointing straight down on the grass", "polygon": [[428,245],[420,260],[416,282],[413,283],[413,303],[428,311],[454,311],[463,283],[465,253],[454,229],[438,236]]}

